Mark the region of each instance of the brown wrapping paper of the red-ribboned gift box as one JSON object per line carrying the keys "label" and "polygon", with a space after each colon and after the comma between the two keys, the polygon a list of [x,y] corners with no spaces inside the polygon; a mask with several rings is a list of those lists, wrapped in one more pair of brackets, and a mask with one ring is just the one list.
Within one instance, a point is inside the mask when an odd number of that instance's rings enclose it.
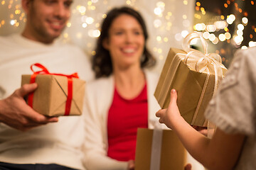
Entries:
{"label": "brown wrapping paper of the red-ribboned gift box", "polygon": [[[22,75],[21,85],[29,84],[31,75]],[[65,114],[65,103],[68,94],[68,79],[64,76],[38,74],[36,76],[38,88],[33,95],[33,109],[48,116]],[[85,81],[73,78],[73,98],[70,115],[81,115]]]}

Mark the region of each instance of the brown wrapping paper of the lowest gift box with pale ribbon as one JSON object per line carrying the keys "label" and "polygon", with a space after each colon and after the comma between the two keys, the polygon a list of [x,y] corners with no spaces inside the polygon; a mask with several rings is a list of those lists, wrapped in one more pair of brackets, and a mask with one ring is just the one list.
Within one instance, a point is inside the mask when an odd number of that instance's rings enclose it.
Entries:
{"label": "brown wrapping paper of the lowest gift box with pale ribbon", "polygon": [[[163,130],[160,145],[160,157],[152,157],[154,130],[139,128],[135,155],[135,170],[183,170],[186,165],[186,149],[173,130]],[[158,140],[158,139],[156,139]],[[154,159],[154,160],[151,160]],[[160,160],[156,160],[160,159]],[[160,161],[160,162],[159,162]],[[154,166],[157,162],[158,166]],[[154,166],[154,167],[151,167]]]}

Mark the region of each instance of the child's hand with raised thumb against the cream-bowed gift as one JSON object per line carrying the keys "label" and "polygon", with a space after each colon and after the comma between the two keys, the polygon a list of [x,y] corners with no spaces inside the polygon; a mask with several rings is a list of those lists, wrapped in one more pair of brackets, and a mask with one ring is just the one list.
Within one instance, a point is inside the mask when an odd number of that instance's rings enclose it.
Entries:
{"label": "child's hand with raised thumb against the cream-bowed gift", "polygon": [[171,100],[168,108],[161,109],[156,112],[156,117],[159,118],[159,123],[164,123],[168,128],[173,129],[173,123],[177,118],[181,118],[181,113],[178,111],[177,106],[177,92],[171,89]]}

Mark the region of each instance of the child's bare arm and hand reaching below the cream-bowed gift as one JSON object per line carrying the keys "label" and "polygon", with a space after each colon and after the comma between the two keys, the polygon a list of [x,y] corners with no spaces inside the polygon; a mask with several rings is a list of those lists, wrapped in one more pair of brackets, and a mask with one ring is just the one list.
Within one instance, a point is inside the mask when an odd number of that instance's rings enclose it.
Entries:
{"label": "child's bare arm and hand reaching below the cream-bowed gift", "polygon": [[188,152],[208,169],[232,169],[238,160],[245,135],[228,135],[217,129],[210,140],[197,132],[181,117],[176,104],[177,94],[171,90],[167,109],[159,110],[159,122],[174,130]]}

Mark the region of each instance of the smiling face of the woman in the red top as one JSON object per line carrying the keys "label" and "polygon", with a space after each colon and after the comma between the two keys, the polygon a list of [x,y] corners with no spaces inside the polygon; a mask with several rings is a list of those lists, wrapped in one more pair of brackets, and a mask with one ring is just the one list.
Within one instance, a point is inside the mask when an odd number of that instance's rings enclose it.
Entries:
{"label": "smiling face of the woman in the red top", "polygon": [[122,14],[114,19],[104,47],[110,51],[113,67],[127,68],[140,64],[145,38],[142,26],[136,18]]}

